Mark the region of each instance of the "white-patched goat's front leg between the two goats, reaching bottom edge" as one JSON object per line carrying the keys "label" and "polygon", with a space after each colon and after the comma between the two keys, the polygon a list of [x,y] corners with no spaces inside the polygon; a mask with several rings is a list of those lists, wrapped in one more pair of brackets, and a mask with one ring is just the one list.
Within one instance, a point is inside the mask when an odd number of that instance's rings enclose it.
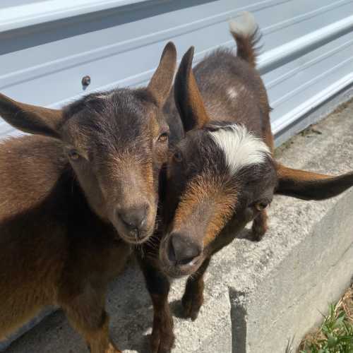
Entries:
{"label": "white-patched goat's front leg between the two goats, reaching bottom edge", "polygon": [[168,304],[169,280],[148,259],[137,256],[153,305],[152,353],[169,353],[174,345],[173,318]]}

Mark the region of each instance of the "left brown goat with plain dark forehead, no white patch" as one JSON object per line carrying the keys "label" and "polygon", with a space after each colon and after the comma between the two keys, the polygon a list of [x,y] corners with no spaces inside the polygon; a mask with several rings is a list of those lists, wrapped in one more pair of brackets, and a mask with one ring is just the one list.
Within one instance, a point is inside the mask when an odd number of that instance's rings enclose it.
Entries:
{"label": "left brown goat with plain dark forehead, no white patch", "polygon": [[107,284],[129,244],[155,229],[175,66],[169,43],[147,88],[93,93],[62,110],[0,95],[1,116],[40,135],[0,144],[0,340],[54,304],[90,352],[120,352]]}

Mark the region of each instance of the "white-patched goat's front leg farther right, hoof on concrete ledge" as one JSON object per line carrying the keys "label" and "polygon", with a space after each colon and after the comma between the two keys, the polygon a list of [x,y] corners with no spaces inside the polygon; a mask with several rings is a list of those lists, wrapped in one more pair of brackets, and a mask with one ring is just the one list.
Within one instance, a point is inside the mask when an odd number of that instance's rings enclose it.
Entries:
{"label": "white-patched goat's front leg farther right, hoof on concrete ledge", "polygon": [[198,317],[198,313],[203,304],[203,275],[210,264],[210,259],[210,257],[206,258],[196,273],[193,273],[193,275],[188,278],[185,292],[181,299],[184,317],[191,318],[192,321],[195,321]]}

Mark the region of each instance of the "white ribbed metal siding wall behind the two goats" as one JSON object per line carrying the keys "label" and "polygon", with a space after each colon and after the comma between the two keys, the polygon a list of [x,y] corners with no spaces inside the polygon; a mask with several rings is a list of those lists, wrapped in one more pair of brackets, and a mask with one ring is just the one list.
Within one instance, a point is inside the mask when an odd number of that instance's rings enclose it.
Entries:
{"label": "white ribbed metal siding wall behind the two goats", "polygon": [[[352,84],[352,0],[11,0],[0,4],[0,91],[60,106],[90,90],[140,85],[164,44],[196,62],[234,47],[227,20],[252,11],[263,31],[259,68],[278,134]],[[90,75],[84,91],[81,78]],[[0,123],[0,136],[11,128]]]}

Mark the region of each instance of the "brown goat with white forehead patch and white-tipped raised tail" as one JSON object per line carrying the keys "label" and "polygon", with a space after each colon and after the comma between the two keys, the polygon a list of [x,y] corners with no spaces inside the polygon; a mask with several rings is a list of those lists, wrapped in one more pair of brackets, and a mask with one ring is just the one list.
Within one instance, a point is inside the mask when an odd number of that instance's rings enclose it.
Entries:
{"label": "brown goat with white forehead patch and white-tipped raised tail", "polygon": [[[186,136],[174,145],[168,162],[159,261],[150,259],[150,268],[145,267],[155,311],[153,352],[170,352],[173,345],[168,277],[191,275],[182,305],[184,316],[195,320],[211,256],[251,220],[253,240],[260,240],[267,229],[265,208],[275,193],[323,200],[353,186],[352,173],[329,177],[274,160],[270,106],[255,69],[258,27],[245,13],[231,32],[237,56],[218,49],[194,68],[193,76],[191,47],[174,83]],[[169,109],[175,114],[172,104]]]}

